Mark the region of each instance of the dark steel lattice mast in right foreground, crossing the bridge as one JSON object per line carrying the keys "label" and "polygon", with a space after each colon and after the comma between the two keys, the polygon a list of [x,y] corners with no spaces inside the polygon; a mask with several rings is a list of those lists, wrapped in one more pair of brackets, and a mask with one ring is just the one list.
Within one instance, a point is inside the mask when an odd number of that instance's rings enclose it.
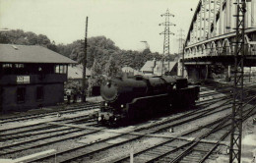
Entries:
{"label": "dark steel lattice mast in right foreground, crossing the bridge", "polygon": [[232,126],[230,136],[229,163],[241,162],[242,112],[243,112],[243,61],[244,52],[244,17],[246,13],[245,0],[236,3],[236,39],[234,49],[234,82],[232,104]]}

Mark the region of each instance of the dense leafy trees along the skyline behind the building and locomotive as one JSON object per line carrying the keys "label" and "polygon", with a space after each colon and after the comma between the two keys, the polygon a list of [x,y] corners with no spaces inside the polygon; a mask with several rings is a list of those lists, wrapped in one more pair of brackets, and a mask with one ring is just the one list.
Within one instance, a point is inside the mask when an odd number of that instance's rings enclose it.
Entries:
{"label": "dense leafy trees along the skyline behind the building and locomotive", "polygon": [[[85,56],[84,40],[76,40],[70,44],[57,44],[43,34],[35,34],[32,31],[25,32],[21,29],[0,32],[0,43],[13,43],[22,45],[41,45],[78,63],[82,63]],[[164,60],[173,61],[178,55],[168,55]],[[95,36],[88,39],[87,68],[92,69],[91,84],[99,84],[103,78],[121,75],[121,68],[128,66],[140,70],[149,60],[161,60],[162,55],[152,53],[149,48],[143,52],[134,50],[121,50],[115,43],[105,36]]]}

